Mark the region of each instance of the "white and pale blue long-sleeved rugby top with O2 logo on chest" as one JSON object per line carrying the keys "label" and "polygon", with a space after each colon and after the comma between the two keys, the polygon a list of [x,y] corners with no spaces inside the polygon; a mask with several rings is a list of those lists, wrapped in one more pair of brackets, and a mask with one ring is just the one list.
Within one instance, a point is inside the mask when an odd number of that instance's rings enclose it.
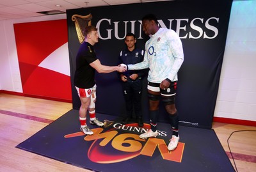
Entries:
{"label": "white and pale blue long-sleeved rugby top with O2 logo on chest", "polygon": [[160,27],[145,44],[144,61],[128,65],[128,69],[149,68],[148,81],[154,83],[161,83],[166,78],[177,81],[177,73],[183,60],[182,43],[177,33]]}

